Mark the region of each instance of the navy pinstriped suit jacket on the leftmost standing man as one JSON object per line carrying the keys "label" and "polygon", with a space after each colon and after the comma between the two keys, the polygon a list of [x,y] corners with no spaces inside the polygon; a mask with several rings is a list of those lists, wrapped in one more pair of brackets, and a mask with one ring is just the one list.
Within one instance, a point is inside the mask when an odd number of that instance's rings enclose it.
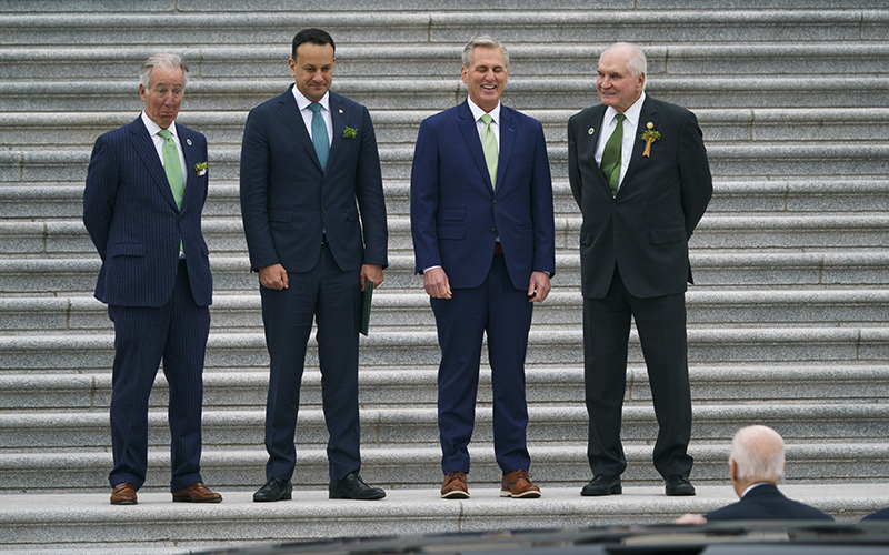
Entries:
{"label": "navy pinstriped suit jacket on the leftmost standing man", "polygon": [[194,302],[212,302],[209,251],[201,233],[208,173],[194,170],[194,164],[207,162],[207,139],[176,127],[186,157],[181,209],[141,117],[96,140],[83,192],[83,224],[102,259],[96,299],[103,303],[167,303],[179,268],[180,240]]}

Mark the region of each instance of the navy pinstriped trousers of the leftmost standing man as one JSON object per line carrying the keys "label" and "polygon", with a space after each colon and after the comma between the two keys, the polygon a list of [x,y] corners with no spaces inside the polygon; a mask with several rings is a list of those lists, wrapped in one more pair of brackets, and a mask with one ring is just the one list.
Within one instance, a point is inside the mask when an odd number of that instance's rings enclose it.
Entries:
{"label": "navy pinstriped trousers of the leftmost standing man", "polygon": [[158,365],[169,383],[170,491],[202,482],[201,405],[203,361],[210,334],[210,310],[198,306],[189,285],[187,262],[179,261],[170,300],[160,307],[109,305],[114,322],[111,379],[113,487],[129,482],[137,490],[148,467],[148,400]]}

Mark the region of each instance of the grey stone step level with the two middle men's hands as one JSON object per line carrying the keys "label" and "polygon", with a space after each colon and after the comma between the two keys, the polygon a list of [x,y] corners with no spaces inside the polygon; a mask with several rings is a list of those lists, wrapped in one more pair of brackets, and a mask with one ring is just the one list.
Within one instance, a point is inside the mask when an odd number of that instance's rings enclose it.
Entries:
{"label": "grey stone step level with the two middle men's hands", "polygon": [[[885,249],[692,251],[690,259],[695,289],[820,290],[889,285],[889,252]],[[0,296],[91,295],[100,265],[98,255],[0,259]],[[258,290],[258,279],[250,273],[246,255],[212,254],[210,265],[217,294]],[[552,281],[556,287],[579,287],[580,255],[558,255]],[[413,273],[413,255],[390,255],[382,286],[413,291],[421,287],[421,279]]]}

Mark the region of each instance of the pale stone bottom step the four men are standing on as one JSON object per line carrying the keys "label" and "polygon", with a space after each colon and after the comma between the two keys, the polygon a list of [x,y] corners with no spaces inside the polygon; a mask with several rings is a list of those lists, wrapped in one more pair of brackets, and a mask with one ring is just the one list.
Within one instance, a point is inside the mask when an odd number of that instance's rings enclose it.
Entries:
{"label": "pale stone bottom step the four men are standing on", "polygon": [[[683,513],[707,513],[737,501],[725,484],[701,486],[695,497],[667,497],[658,485],[630,486],[623,495],[607,498],[581,497],[577,487],[550,487],[540,500],[508,500],[498,496],[499,485],[488,483],[459,502],[440,500],[438,487],[392,490],[373,503],[297,491],[293,502],[256,504],[252,491],[223,490],[224,501],[218,505],[172,504],[169,493],[140,492],[139,505],[123,509],[108,505],[108,492],[3,495],[0,534],[9,549],[59,553],[166,548],[184,554],[262,544],[273,549],[270,544],[284,542],[417,534],[448,534],[452,545],[459,533],[669,524]],[[889,504],[889,491],[881,483],[788,484],[781,491],[847,524]],[[361,542],[366,544],[373,547]]]}

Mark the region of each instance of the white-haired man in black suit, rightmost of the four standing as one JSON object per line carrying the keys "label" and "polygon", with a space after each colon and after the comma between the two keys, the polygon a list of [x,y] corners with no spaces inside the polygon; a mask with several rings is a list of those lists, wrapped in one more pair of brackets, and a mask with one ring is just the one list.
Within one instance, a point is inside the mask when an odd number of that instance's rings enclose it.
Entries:
{"label": "white-haired man in black suit, rightmost of the four standing", "polygon": [[686,349],[688,240],[712,195],[701,130],[688,110],[647,97],[646,57],[618,43],[599,60],[602,103],[568,122],[568,175],[580,229],[583,357],[593,480],[581,495],[621,493],[620,443],[630,320],[648,366],[667,495],[695,495]]}

